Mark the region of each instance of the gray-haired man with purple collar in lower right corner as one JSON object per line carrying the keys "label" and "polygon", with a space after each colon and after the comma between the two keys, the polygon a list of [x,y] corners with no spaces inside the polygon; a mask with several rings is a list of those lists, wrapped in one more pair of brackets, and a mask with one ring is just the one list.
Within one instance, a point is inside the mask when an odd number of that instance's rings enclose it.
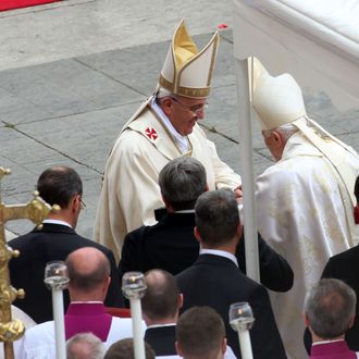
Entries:
{"label": "gray-haired man with purple collar in lower right corner", "polygon": [[356,293],[335,278],[320,280],[307,294],[305,321],[312,335],[310,358],[358,358],[345,342],[356,317]]}

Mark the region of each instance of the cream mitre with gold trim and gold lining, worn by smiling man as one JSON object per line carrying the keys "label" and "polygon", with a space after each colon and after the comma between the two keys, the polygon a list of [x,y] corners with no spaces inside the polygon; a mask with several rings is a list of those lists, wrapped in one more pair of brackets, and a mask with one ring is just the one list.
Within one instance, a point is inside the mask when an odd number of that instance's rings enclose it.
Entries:
{"label": "cream mitre with gold trim and gold lining, worn by smiling man", "polygon": [[174,33],[164,61],[159,79],[160,86],[178,96],[208,97],[219,39],[219,34],[215,32],[208,45],[198,51],[182,21]]}

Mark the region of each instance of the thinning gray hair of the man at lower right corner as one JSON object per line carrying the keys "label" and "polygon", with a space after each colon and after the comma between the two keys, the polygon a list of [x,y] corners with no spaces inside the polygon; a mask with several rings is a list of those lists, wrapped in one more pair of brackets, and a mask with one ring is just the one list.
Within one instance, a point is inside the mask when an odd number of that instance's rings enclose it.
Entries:
{"label": "thinning gray hair of the man at lower right corner", "polygon": [[343,335],[356,311],[356,293],[335,278],[320,280],[307,294],[305,313],[310,327],[321,338]]}

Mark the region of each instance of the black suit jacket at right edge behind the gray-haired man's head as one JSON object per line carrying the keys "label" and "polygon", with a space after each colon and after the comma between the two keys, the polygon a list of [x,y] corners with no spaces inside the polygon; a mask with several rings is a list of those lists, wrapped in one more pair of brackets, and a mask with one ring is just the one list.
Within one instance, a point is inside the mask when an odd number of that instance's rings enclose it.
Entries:
{"label": "black suit jacket at right edge behind the gray-haired man's head", "polygon": [[[330,258],[326,263],[323,278],[336,278],[348,284],[359,298],[359,246],[350,248],[342,253]],[[350,350],[359,351],[359,300],[357,299],[356,320],[351,329],[345,334],[345,341]],[[309,352],[311,336],[308,330],[305,334],[305,345]]]}

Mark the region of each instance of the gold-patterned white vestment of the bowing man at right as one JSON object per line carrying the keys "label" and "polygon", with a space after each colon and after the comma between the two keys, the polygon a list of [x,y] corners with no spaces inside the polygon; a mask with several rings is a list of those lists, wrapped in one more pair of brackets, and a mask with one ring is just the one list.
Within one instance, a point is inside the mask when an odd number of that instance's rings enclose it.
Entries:
{"label": "gold-patterned white vestment of the bowing man at right", "polygon": [[[343,153],[358,175],[358,156]],[[282,159],[257,178],[256,201],[259,232],[295,273],[293,288],[271,293],[271,300],[288,358],[302,359],[305,296],[329,258],[357,243],[352,205],[335,169],[300,133],[288,139]]]}

